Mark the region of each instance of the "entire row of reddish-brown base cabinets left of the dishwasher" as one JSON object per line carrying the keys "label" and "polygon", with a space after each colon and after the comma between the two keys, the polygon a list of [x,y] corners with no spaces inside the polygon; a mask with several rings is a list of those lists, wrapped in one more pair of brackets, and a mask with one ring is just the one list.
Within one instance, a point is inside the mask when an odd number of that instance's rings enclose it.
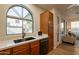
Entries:
{"label": "entire row of reddish-brown base cabinets left of the dishwasher", "polygon": [[39,40],[0,51],[0,55],[39,55]]}

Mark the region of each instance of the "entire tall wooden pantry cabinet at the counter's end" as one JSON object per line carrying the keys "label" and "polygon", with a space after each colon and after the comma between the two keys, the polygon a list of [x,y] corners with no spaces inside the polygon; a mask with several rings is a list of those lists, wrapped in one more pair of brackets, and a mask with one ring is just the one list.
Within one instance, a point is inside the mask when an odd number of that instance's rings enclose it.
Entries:
{"label": "entire tall wooden pantry cabinet at the counter's end", "polygon": [[53,14],[49,11],[45,11],[40,14],[40,31],[48,34],[48,47],[49,51],[53,49],[54,45],[54,24],[53,24]]}

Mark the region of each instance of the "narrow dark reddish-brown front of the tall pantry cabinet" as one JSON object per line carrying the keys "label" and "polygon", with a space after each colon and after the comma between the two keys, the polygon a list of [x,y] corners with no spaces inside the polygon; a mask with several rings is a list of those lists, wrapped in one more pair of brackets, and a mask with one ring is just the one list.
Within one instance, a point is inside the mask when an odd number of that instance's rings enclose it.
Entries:
{"label": "narrow dark reddish-brown front of the tall pantry cabinet", "polygon": [[49,21],[48,21],[48,43],[49,43],[49,51],[53,49],[53,38],[54,38],[54,32],[53,32],[53,14],[49,13]]}

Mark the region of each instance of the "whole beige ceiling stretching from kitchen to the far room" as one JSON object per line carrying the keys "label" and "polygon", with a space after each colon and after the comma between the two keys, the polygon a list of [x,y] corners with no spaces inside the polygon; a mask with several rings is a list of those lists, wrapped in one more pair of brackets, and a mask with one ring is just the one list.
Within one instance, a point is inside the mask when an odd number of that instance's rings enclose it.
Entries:
{"label": "whole beige ceiling stretching from kitchen to the far room", "polygon": [[67,16],[70,16],[73,20],[79,20],[79,5],[68,8],[71,5],[73,4],[36,4],[37,7],[45,10],[56,8]]}

